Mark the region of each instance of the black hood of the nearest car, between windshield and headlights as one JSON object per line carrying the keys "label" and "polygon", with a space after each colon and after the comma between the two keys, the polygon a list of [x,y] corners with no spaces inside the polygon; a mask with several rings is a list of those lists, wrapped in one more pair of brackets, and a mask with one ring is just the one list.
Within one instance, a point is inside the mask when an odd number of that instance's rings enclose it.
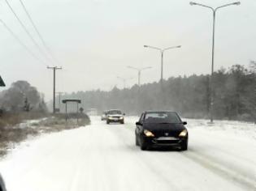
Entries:
{"label": "black hood of the nearest car, between windshield and headlights", "polygon": [[150,130],[156,137],[178,137],[180,132],[186,129],[183,124],[155,124],[145,123],[143,128]]}

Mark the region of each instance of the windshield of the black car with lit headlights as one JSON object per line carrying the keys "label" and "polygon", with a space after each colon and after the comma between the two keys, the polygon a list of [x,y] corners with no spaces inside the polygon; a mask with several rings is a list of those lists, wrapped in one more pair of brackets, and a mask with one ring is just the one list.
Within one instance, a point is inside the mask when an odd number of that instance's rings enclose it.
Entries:
{"label": "windshield of the black car with lit headlights", "polygon": [[180,117],[176,112],[147,112],[145,123],[180,123]]}

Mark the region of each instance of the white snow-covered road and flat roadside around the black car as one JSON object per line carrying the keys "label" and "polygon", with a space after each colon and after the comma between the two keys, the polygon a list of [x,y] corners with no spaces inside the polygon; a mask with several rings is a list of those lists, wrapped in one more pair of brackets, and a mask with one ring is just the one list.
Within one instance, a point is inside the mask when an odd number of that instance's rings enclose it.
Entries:
{"label": "white snow-covered road and flat roadside around the black car", "polygon": [[23,142],[0,163],[8,191],[256,190],[256,126],[187,120],[189,151],[141,151],[137,117],[92,119]]}

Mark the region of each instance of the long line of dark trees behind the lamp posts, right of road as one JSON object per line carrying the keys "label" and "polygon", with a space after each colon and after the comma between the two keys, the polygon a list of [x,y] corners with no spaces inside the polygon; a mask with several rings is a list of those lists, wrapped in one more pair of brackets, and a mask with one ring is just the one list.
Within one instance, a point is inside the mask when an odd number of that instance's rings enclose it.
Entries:
{"label": "long line of dark trees behind the lamp posts, right of road", "polygon": [[[256,118],[256,64],[234,65],[215,71],[212,79],[215,119],[254,121]],[[207,118],[210,110],[210,75],[171,77],[160,83],[111,91],[78,91],[65,99],[82,100],[85,110],[119,108],[137,115],[145,110],[173,110],[183,117]],[[72,107],[72,106],[69,106]]]}

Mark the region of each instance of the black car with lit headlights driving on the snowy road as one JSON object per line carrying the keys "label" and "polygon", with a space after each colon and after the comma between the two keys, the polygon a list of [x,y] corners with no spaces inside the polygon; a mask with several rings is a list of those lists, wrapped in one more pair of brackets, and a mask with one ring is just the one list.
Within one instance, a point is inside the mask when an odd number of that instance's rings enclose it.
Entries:
{"label": "black car with lit headlights driving on the snowy road", "polygon": [[176,112],[149,111],[141,114],[136,123],[136,145],[141,150],[158,146],[175,146],[181,151],[188,149],[189,133]]}

